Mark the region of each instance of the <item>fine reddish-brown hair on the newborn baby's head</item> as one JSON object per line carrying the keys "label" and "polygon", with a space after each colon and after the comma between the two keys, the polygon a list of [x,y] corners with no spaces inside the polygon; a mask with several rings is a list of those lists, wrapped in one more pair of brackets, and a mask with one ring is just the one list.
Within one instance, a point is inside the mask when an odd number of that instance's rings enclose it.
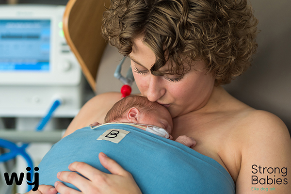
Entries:
{"label": "fine reddish-brown hair on the newborn baby's head", "polygon": [[151,102],[146,97],[128,96],[116,102],[105,116],[104,123],[118,122],[124,118],[130,108],[135,107],[140,112],[149,114],[157,109],[157,106],[162,106],[157,102]]}

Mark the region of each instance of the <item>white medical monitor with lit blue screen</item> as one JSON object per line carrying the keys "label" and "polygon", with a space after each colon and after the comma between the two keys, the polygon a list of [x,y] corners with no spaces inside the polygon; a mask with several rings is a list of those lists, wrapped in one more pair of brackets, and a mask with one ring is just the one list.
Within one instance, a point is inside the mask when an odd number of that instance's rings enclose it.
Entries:
{"label": "white medical monitor with lit blue screen", "polygon": [[66,44],[62,5],[0,6],[0,117],[42,117],[56,98],[56,117],[82,105],[80,65]]}

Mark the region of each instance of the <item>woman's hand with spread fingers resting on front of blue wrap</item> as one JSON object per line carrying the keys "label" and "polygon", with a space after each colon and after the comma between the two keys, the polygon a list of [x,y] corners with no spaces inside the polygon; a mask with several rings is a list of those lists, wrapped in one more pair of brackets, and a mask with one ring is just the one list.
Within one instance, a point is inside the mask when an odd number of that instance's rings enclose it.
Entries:
{"label": "woman's hand with spread fingers resting on front of blue wrap", "polygon": [[[57,177],[75,185],[82,194],[141,194],[139,187],[135,183],[132,175],[124,170],[117,162],[107,157],[104,153],[99,153],[100,163],[112,174],[103,173],[84,162],[73,162],[69,165],[69,170],[79,172],[84,177],[75,172],[59,172]],[[80,194],[80,192],[65,186],[57,181],[55,188],[61,194]]]}

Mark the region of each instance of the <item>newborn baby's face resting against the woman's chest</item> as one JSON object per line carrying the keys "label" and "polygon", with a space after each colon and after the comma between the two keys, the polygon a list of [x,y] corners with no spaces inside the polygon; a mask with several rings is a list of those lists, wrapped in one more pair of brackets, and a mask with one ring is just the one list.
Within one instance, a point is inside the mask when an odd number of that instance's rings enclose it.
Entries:
{"label": "newborn baby's face resting against the woman's chest", "polygon": [[163,129],[166,129],[170,134],[173,129],[173,121],[169,111],[162,105],[151,113],[142,113],[142,117],[139,123],[154,125]]}

